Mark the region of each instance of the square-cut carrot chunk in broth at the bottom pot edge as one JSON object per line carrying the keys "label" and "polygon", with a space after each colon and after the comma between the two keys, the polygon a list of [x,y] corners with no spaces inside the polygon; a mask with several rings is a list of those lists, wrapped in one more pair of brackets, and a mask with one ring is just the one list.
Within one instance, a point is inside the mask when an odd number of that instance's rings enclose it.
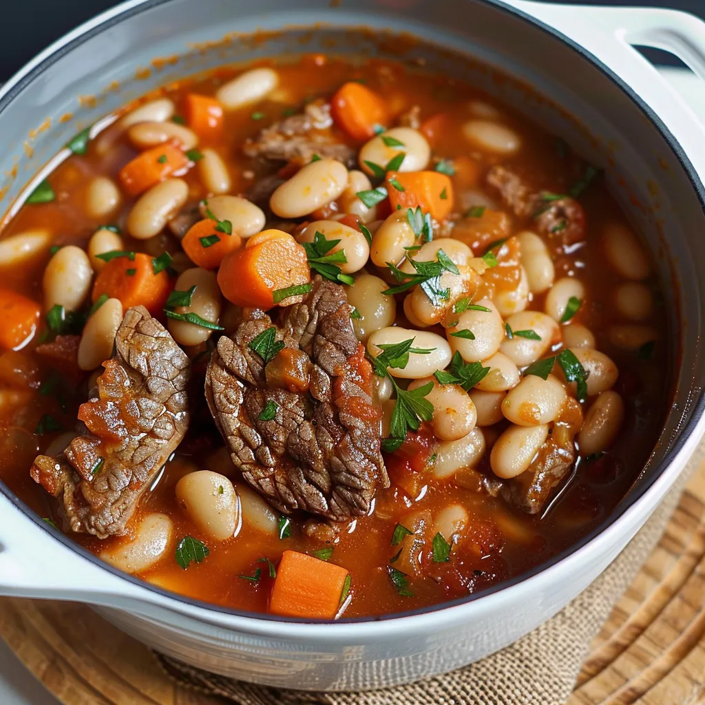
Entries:
{"label": "square-cut carrot chunk in broth at the bottom pot edge", "polygon": [[286,617],[333,619],[341,606],[348,571],[298,551],[284,551],[269,612]]}

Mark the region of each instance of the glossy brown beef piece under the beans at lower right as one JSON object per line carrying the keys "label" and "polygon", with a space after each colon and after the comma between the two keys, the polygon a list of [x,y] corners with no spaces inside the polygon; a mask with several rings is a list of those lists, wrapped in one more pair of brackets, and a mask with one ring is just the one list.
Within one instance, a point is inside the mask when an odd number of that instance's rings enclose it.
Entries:
{"label": "glossy brown beef piece under the beans at lower right", "polygon": [[539,514],[546,507],[553,488],[565,478],[575,463],[575,434],[582,426],[582,409],[572,397],[563,403],[551,435],[541,446],[531,465],[513,479],[506,480],[501,496],[527,514]]}

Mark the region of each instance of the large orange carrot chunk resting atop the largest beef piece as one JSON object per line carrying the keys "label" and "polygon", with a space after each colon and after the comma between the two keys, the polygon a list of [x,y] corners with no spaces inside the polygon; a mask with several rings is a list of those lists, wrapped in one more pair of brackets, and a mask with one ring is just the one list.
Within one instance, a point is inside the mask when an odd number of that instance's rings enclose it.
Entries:
{"label": "large orange carrot chunk resting atop the largest beef piece", "polygon": [[269,309],[274,292],[311,281],[306,250],[281,230],[266,230],[226,255],[218,270],[223,296],[238,306]]}

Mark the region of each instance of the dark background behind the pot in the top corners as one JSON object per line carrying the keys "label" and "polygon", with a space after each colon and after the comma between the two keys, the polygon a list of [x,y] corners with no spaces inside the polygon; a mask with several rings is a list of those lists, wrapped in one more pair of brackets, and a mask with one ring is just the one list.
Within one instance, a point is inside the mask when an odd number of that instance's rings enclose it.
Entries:
{"label": "dark background behind the pot in the top corners", "polygon": [[[343,2],[354,4],[354,0]],[[705,18],[705,0],[582,0],[582,3],[668,6]],[[0,82],[9,78],[54,39],[117,4],[118,0],[0,0],[4,30],[0,41]],[[678,63],[663,52],[649,51],[648,56],[658,63]]]}

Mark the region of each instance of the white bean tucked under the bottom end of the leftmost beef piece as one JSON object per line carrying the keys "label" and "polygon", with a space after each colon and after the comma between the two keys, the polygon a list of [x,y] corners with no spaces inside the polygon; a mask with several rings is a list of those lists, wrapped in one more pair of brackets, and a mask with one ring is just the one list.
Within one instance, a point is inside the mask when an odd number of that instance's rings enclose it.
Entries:
{"label": "white bean tucked under the bottom end of the leftmost beef piece", "polygon": [[127,573],[139,573],[157,563],[171,543],[173,522],[166,514],[149,514],[137,527],[135,536],[116,546],[104,548],[100,557]]}

